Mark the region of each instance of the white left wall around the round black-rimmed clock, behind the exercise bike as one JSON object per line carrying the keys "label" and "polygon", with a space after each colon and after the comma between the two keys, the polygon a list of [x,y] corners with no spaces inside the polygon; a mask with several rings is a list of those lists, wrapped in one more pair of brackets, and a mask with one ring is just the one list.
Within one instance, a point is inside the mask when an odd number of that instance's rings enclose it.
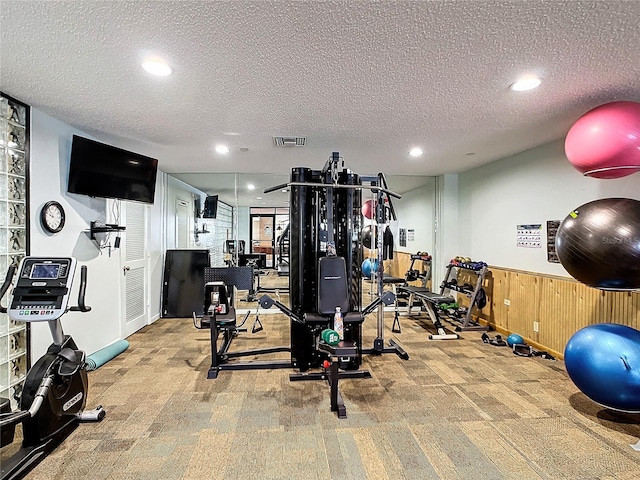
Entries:
{"label": "white left wall around the round black-rimmed clock, behind the exercise bike", "polygon": [[[86,303],[91,312],[70,312],[63,319],[65,333],[80,348],[92,353],[120,338],[120,260],[101,252],[89,238],[93,220],[107,220],[107,200],[68,194],[67,175],[73,134],[87,136],[36,109],[31,110],[30,144],[30,254],[73,256],[88,266]],[[40,224],[40,210],[50,201],[60,202],[66,212],[63,230],[46,233]],[[79,267],[78,267],[79,268]],[[72,301],[77,300],[79,272]],[[31,355],[40,357],[51,344],[46,322],[31,324]]]}

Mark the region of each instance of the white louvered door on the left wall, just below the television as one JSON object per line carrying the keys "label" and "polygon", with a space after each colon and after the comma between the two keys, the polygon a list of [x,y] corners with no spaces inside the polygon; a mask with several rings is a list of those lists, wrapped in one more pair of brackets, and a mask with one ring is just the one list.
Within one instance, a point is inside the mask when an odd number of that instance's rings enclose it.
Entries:
{"label": "white louvered door on the left wall, just below the television", "polygon": [[120,253],[123,275],[123,336],[137,332],[149,323],[147,298],[147,207],[123,202],[122,222],[127,227]]}

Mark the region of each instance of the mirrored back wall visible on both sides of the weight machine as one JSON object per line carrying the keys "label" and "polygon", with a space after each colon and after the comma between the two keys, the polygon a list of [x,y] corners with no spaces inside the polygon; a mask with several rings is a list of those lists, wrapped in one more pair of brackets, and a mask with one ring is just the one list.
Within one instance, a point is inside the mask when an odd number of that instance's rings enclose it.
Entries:
{"label": "mirrored back wall visible on both sides of the weight machine", "polygon": [[[254,267],[252,290],[237,296],[237,308],[247,311],[254,309],[255,300],[261,294],[278,295],[280,301],[287,305],[289,174],[199,173],[172,176],[202,192],[199,201],[203,203],[198,207],[201,211],[206,210],[204,202],[207,196],[217,198],[217,218],[196,216],[194,221],[199,240],[197,247],[209,250],[211,266]],[[387,184],[389,190],[403,195],[403,199],[393,201],[395,211],[403,217],[402,222],[393,222],[391,225],[394,236],[398,238],[399,226],[412,232],[411,240],[403,248],[400,248],[397,240],[394,247],[402,252],[431,251],[430,221],[434,203],[429,198],[433,196],[434,178],[387,176]],[[265,193],[265,190],[271,192]],[[363,200],[373,196],[370,189],[363,192]],[[229,214],[222,214],[224,211]],[[396,270],[406,269],[404,263],[407,262],[394,262],[397,264]]]}

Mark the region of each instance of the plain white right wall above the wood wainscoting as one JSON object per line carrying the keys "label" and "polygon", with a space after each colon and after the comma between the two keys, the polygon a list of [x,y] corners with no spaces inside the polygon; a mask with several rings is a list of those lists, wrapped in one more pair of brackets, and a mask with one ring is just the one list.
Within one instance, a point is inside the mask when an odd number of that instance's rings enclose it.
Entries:
{"label": "plain white right wall above the wood wainscoting", "polygon": [[[640,174],[598,180],[567,161],[564,142],[522,152],[460,174],[460,250],[490,265],[569,276],[547,262],[546,248],[516,247],[516,226],[563,220],[576,207],[607,197],[640,200]],[[467,253],[468,252],[468,253]]]}

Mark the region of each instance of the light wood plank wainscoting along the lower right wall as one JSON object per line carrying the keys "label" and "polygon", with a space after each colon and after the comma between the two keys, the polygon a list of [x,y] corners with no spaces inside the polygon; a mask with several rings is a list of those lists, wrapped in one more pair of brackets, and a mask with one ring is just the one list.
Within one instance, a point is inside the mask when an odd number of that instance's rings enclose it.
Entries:
{"label": "light wood plank wainscoting along the lower right wall", "polygon": [[[385,262],[385,271],[403,277],[410,263],[410,254],[394,252],[393,260]],[[475,285],[475,281],[473,272],[458,272],[459,284]],[[569,338],[587,325],[618,323],[640,330],[640,292],[597,290],[572,278],[492,265],[483,288],[487,306],[475,320],[502,335],[517,333],[534,348],[560,359]],[[433,290],[440,291],[438,286]],[[458,294],[458,304],[468,306],[469,299]]]}

